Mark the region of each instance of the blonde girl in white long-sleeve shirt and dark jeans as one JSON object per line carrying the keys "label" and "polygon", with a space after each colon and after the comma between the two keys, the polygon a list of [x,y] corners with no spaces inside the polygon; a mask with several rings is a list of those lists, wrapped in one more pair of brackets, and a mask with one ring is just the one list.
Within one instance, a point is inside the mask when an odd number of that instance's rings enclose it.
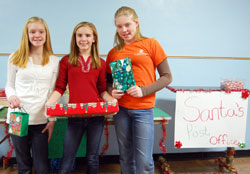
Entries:
{"label": "blonde girl in white long-sleeve shirt and dark jeans", "polygon": [[[46,22],[29,18],[23,29],[20,46],[8,61],[6,95],[10,112],[23,107],[29,114],[28,135],[10,135],[16,152],[18,173],[49,173],[48,141],[55,120],[48,121],[45,102],[54,90],[59,58],[53,55]],[[33,164],[33,165],[32,165]]]}

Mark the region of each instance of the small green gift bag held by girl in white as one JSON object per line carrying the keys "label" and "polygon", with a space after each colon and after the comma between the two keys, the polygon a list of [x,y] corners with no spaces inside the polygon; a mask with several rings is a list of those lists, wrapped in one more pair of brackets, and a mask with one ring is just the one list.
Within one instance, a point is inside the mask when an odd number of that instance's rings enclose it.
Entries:
{"label": "small green gift bag held by girl in white", "polygon": [[29,114],[24,112],[11,112],[9,121],[9,134],[20,137],[28,135]]}

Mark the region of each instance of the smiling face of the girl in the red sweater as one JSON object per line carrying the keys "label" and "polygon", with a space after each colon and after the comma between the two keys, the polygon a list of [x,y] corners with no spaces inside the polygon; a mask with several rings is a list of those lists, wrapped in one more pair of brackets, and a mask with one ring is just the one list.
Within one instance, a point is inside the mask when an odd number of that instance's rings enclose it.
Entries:
{"label": "smiling face of the girl in the red sweater", "polygon": [[94,42],[95,37],[90,27],[83,26],[76,31],[76,44],[80,53],[90,53]]}

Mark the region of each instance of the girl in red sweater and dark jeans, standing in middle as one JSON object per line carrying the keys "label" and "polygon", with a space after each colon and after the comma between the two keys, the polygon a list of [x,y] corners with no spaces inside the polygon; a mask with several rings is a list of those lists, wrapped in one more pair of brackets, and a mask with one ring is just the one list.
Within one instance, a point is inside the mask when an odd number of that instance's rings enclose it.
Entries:
{"label": "girl in red sweater and dark jeans, standing in middle", "polygon": [[[60,61],[55,91],[46,104],[55,104],[63,95],[67,85],[69,103],[114,100],[106,91],[106,63],[99,57],[98,34],[92,23],[81,22],[74,28],[70,54]],[[103,127],[104,117],[68,119],[60,174],[71,172],[85,131],[87,131],[87,173],[98,173],[99,145]]]}

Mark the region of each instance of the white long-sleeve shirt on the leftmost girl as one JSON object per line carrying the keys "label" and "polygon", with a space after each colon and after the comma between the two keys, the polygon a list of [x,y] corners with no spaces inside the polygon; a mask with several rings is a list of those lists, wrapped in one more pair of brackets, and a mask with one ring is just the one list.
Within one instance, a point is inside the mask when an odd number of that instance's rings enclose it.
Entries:
{"label": "white long-sleeve shirt on the leftmost girl", "polygon": [[[19,98],[21,106],[29,114],[29,125],[47,123],[45,103],[54,90],[58,67],[59,58],[56,56],[50,56],[49,63],[45,66],[34,64],[29,57],[26,68],[13,65],[9,58],[5,93],[7,99],[13,95]],[[14,109],[8,109],[7,123],[10,112],[13,111]]]}

